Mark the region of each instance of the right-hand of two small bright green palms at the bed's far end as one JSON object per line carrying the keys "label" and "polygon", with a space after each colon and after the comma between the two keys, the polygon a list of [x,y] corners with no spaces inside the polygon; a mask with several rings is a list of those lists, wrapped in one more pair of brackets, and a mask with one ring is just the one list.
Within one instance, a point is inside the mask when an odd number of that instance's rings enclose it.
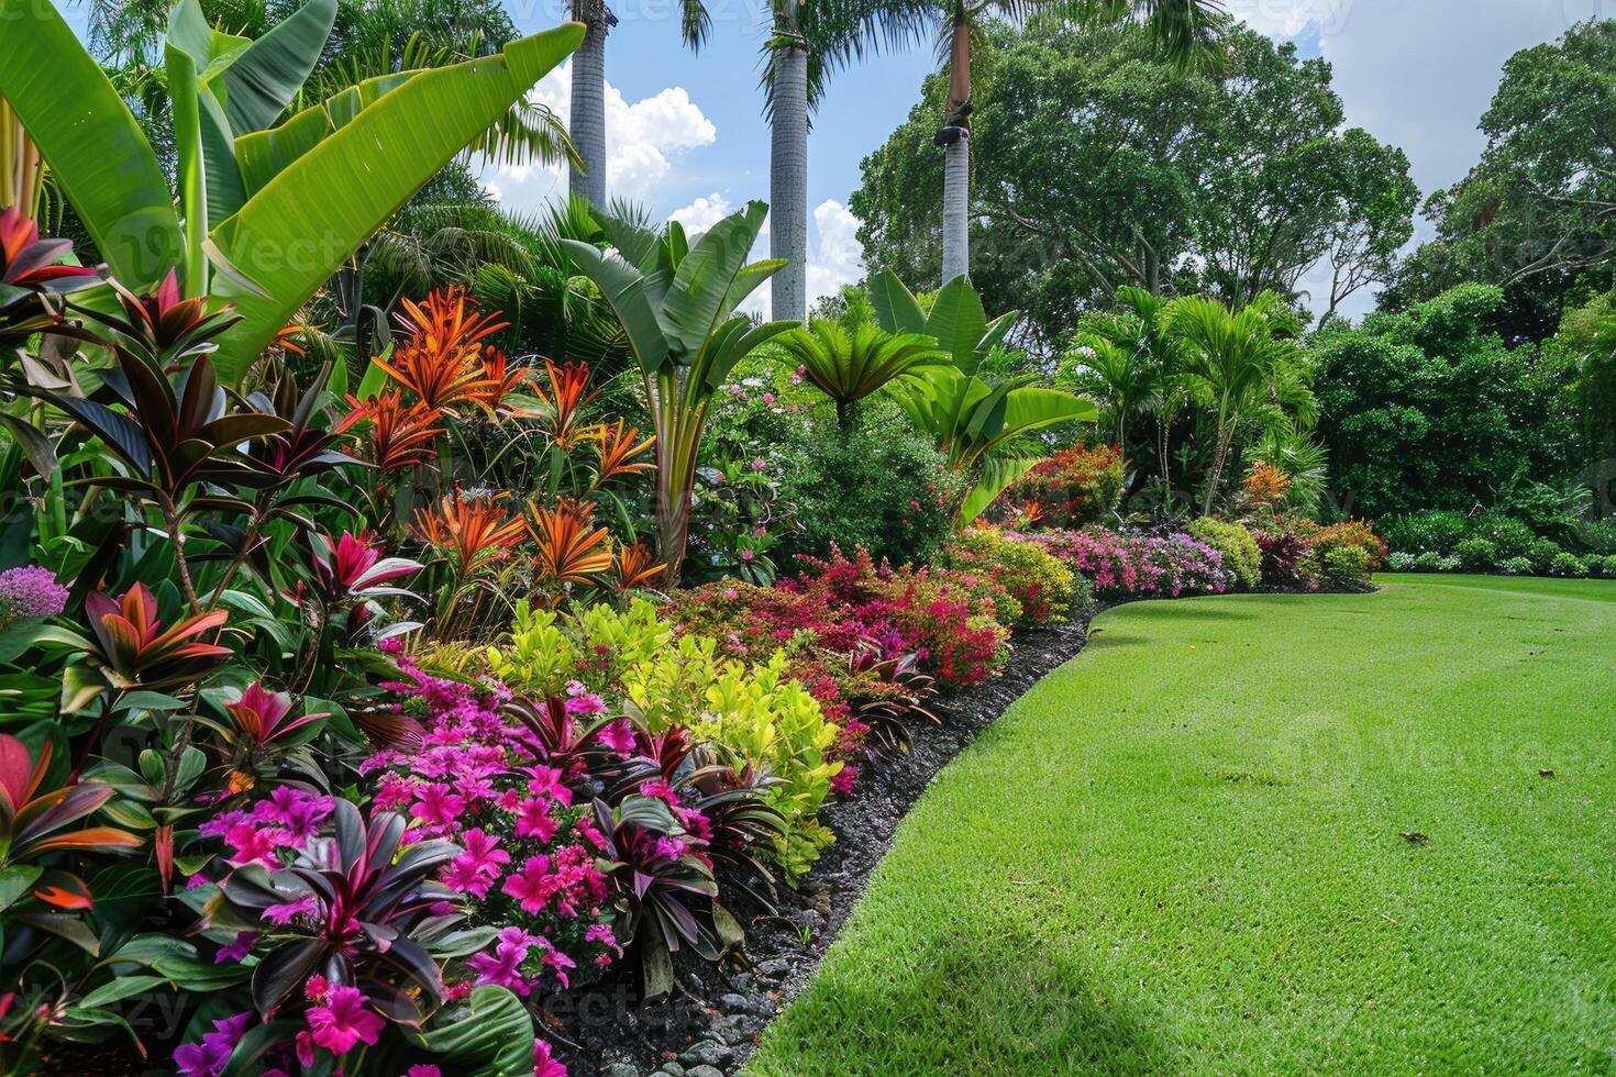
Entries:
{"label": "right-hand of two small bright green palms at the bed's far end", "polygon": [[1275,299],[1264,294],[1231,312],[1217,299],[1189,295],[1164,312],[1168,331],[1188,349],[1189,389],[1212,412],[1215,442],[1202,513],[1212,512],[1243,423],[1267,433],[1293,417],[1311,423],[1317,413],[1306,358],[1294,341],[1281,336],[1283,325],[1269,316]]}

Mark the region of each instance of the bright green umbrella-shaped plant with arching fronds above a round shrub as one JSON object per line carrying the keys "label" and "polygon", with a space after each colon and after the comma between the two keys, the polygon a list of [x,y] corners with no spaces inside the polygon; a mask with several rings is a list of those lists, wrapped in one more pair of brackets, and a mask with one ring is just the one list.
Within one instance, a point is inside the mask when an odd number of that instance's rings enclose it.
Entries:
{"label": "bright green umbrella-shaped plant with arching fronds above a round shrub", "polygon": [[869,323],[848,333],[824,318],[784,334],[781,346],[808,381],[835,402],[842,430],[852,428],[852,409],[866,396],[915,367],[947,358],[923,333],[890,333]]}

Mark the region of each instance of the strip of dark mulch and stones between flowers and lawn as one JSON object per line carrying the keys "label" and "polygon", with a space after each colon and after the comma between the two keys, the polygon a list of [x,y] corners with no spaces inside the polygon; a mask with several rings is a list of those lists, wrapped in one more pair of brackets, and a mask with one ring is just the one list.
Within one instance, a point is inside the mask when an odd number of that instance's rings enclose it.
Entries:
{"label": "strip of dark mulch and stones between flowers and lawn", "polygon": [[827,806],[823,815],[835,843],[797,890],[781,890],[777,916],[737,909],[753,917],[740,964],[713,966],[687,954],[675,962],[679,988],[661,1003],[640,1003],[632,972],[546,998],[564,1048],[558,1056],[572,1074],[713,1077],[737,1071],[769,1019],[808,983],[932,777],[1028,688],[1083,649],[1097,610],[1068,625],[1018,633],[999,677],[939,706],[942,723],[916,723],[908,756],[868,767],[852,798]]}

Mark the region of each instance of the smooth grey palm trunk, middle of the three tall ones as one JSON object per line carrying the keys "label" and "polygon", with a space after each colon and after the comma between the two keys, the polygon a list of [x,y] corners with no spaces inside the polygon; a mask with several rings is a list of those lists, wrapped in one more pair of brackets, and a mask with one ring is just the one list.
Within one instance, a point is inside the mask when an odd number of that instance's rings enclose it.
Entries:
{"label": "smooth grey palm trunk, middle of the three tall ones", "polygon": [[769,281],[769,316],[800,320],[808,313],[808,50],[784,44],[772,52],[769,257],[785,266]]}

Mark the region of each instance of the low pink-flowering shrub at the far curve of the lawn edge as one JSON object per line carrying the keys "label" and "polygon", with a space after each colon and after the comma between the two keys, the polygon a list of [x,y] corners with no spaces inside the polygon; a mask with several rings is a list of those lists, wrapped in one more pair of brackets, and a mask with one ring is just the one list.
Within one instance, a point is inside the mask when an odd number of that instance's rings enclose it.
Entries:
{"label": "low pink-flowering shrub at the far curve of the lawn edge", "polygon": [[1092,580],[1099,599],[1222,594],[1236,583],[1223,555],[1188,534],[1123,534],[1096,528],[1010,538],[1042,543],[1073,572]]}

